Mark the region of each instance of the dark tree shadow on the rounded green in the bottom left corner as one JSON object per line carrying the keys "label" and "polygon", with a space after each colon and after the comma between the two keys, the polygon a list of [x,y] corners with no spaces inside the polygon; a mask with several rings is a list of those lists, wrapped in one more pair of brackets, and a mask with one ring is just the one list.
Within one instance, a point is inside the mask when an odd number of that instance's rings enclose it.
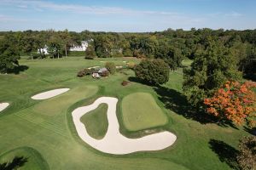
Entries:
{"label": "dark tree shadow on the rounded green in the bottom left corner", "polygon": [[18,167],[23,167],[28,158],[24,156],[15,156],[15,158],[10,162],[3,162],[0,163],[0,170],[13,170],[17,169]]}

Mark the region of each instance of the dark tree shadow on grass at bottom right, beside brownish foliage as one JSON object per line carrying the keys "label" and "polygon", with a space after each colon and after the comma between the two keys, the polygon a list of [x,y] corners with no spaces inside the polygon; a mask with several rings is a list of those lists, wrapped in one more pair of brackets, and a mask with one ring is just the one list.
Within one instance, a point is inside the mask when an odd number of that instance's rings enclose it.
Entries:
{"label": "dark tree shadow on grass at bottom right, beside brownish foliage", "polygon": [[210,139],[209,144],[212,151],[218,155],[220,161],[227,163],[232,169],[240,169],[236,159],[239,155],[239,150],[216,139]]}

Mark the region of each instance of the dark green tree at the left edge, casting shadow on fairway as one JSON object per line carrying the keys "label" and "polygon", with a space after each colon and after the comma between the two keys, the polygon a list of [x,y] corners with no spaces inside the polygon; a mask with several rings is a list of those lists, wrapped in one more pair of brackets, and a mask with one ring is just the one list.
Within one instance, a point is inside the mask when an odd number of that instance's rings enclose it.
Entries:
{"label": "dark green tree at the left edge, casting shadow on fairway", "polygon": [[15,46],[15,37],[7,36],[0,42],[0,72],[8,73],[19,66],[20,54]]}

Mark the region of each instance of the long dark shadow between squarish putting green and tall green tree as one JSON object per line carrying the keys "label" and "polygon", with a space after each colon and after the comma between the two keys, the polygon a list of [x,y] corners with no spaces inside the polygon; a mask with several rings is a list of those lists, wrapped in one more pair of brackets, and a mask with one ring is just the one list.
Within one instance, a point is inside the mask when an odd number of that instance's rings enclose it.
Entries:
{"label": "long dark shadow between squarish putting green and tall green tree", "polygon": [[192,119],[202,124],[215,122],[215,117],[206,114],[203,111],[198,111],[195,107],[189,104],[186,97],[172,88],[155,87],[154,91],[159,95],[159,99],[165,105],[166,109],[176,112],[187,119]]}

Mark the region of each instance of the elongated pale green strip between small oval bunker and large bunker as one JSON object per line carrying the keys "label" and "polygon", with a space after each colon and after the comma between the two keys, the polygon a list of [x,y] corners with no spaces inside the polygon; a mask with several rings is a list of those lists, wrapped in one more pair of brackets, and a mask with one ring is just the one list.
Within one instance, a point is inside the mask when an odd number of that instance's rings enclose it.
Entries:
{"label": "elongated pale green strip between small oval bunker and large bunker", "polygon": [[41,101],[38,105],[34,106],[33,111],[48,116],[55,116],[63,111],[67,111],[67,108],[77,101],[93,96],[97,90],[96,86],[73,88],[65,94]]}

